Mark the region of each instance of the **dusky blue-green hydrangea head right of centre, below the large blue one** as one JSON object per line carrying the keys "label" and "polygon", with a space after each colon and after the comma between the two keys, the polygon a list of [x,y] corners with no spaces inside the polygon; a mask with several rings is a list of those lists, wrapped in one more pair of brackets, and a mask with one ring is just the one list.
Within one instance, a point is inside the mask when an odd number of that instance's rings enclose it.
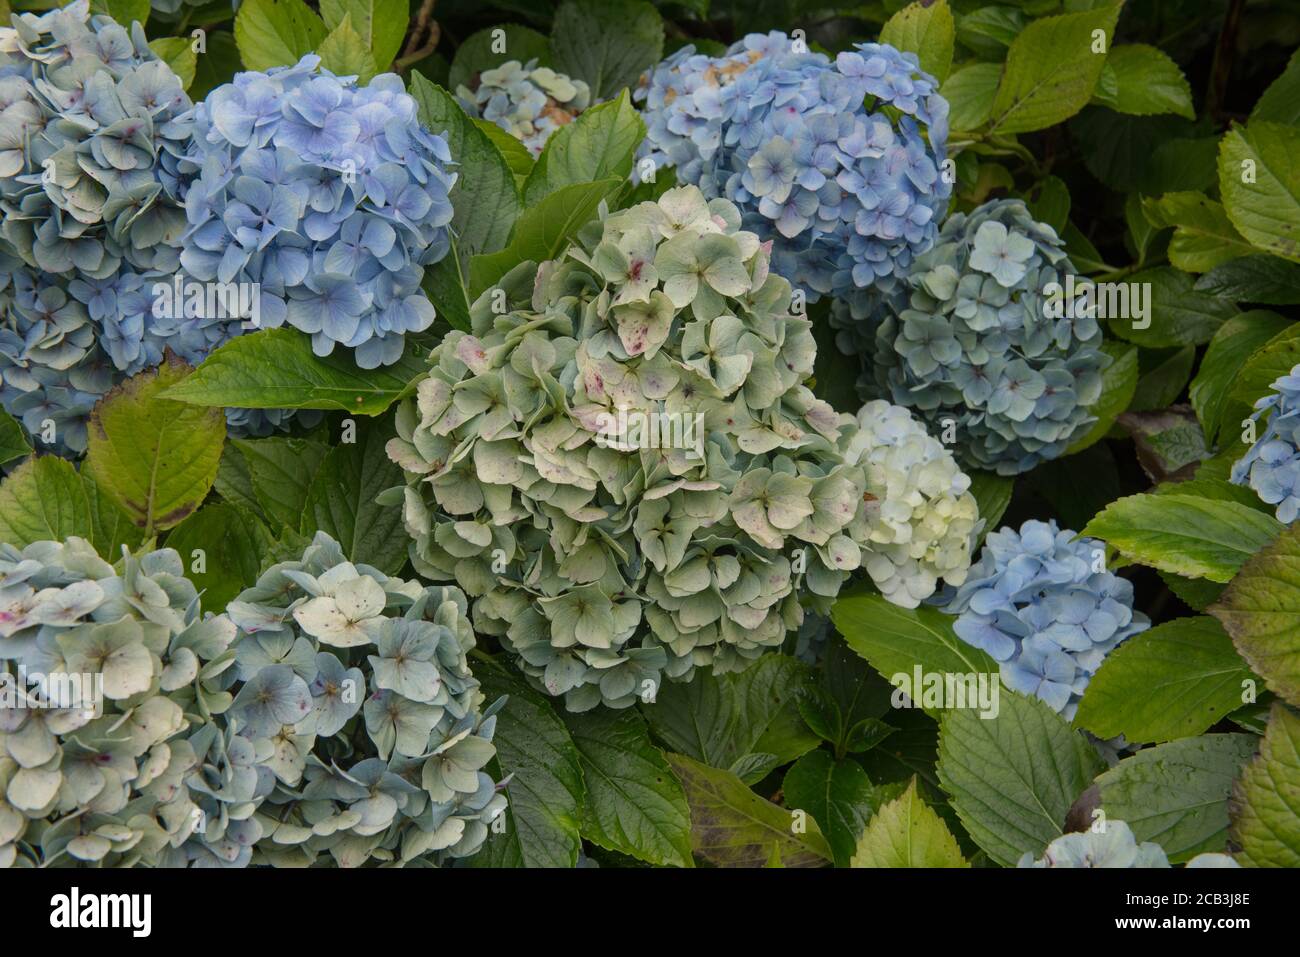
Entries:
{"label": "dusky blue-green hydrangea head right of centre, below the large blue one", "polygon": [[1057,458],[1095,421],[1110,361],[1093,309],[1052,295],[1072,272],[1020,200],[952,216],[884,309],[876,386],[936,430],[956,424],[975,468],[1018,475]]}

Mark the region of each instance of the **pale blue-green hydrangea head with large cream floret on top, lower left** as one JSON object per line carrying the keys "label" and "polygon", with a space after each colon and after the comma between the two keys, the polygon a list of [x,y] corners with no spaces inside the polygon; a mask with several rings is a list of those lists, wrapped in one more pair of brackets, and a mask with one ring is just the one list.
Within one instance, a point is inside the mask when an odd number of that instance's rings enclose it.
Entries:
{"label": "pale blue-green hydrangea head with large cream floret on top, lower left", "polygon": [[504,700],[481,710],[467,612],[458,589],[352,564],[324,532],[264,572],[228,609],[235,694],[209,740],[209,819],[250,800],[229,798],[235,768],[260,783],[240,835],[255,862],[473,854],[506,806],[484,771]]}

